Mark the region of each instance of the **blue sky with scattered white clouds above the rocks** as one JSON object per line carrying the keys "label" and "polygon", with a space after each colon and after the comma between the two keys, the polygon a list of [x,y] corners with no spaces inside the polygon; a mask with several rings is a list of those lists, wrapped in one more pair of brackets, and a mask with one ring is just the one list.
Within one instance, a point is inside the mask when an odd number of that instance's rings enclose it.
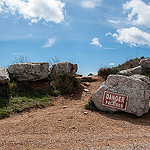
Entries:
{"label": "blue sky with scattered white clouds above the rocks", "polygon": [[78,73],[150,55],[149,0],[0,0],[0,67],[57,57]]}

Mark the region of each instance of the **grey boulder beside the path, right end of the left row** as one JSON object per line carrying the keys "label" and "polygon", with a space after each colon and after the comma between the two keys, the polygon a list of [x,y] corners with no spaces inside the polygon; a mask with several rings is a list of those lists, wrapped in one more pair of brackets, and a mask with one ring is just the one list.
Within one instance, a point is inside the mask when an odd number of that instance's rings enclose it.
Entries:
{"label": "grey boulder beside the path, right end of the left row", "polygon": [[69,75],[75,75],[78,70],[77,64],[72,64],[70,62],[59,62],[52,65],[52,68],[49,73],[49,79],[55,78],[60,73],[66,73]]}

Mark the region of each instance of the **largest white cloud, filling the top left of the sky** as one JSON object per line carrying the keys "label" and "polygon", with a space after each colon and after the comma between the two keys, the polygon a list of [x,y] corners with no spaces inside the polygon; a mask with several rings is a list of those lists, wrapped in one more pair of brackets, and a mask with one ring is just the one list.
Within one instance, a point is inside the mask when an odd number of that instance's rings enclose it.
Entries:
{"label": "largest white cloud, filling the top left of the sky", "polygon": [[[60,0],[0,0],[3,5],[2,12],[22,15],[30,19],[31,23],[37,23],[41,19],[49,22],[60,23],[64,20],[63,7]],[[5,7],[4,7],[5,6]]]}

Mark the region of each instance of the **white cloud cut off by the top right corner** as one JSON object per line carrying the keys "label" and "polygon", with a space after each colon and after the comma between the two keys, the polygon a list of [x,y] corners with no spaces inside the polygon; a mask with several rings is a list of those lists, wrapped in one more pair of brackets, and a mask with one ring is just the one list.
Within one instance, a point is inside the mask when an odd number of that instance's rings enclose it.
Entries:
{"label": "white cloud cut off by the top right corner", "polygon": [[128,20],[133,24],[150,26],[150,4],[142,0],[130,0],[123,4],[124,11],[131,10]]}

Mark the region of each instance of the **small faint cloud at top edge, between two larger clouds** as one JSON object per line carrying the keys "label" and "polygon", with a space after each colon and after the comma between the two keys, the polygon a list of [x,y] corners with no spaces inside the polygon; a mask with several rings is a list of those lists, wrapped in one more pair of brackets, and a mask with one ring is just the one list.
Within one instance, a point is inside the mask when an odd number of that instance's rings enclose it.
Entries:
{"label": "small faint cloud at top edge, between two larger clouds", "polygon": [[95,8],[101,5],[102,0],[82,0],[80,5],[84,8]]}

